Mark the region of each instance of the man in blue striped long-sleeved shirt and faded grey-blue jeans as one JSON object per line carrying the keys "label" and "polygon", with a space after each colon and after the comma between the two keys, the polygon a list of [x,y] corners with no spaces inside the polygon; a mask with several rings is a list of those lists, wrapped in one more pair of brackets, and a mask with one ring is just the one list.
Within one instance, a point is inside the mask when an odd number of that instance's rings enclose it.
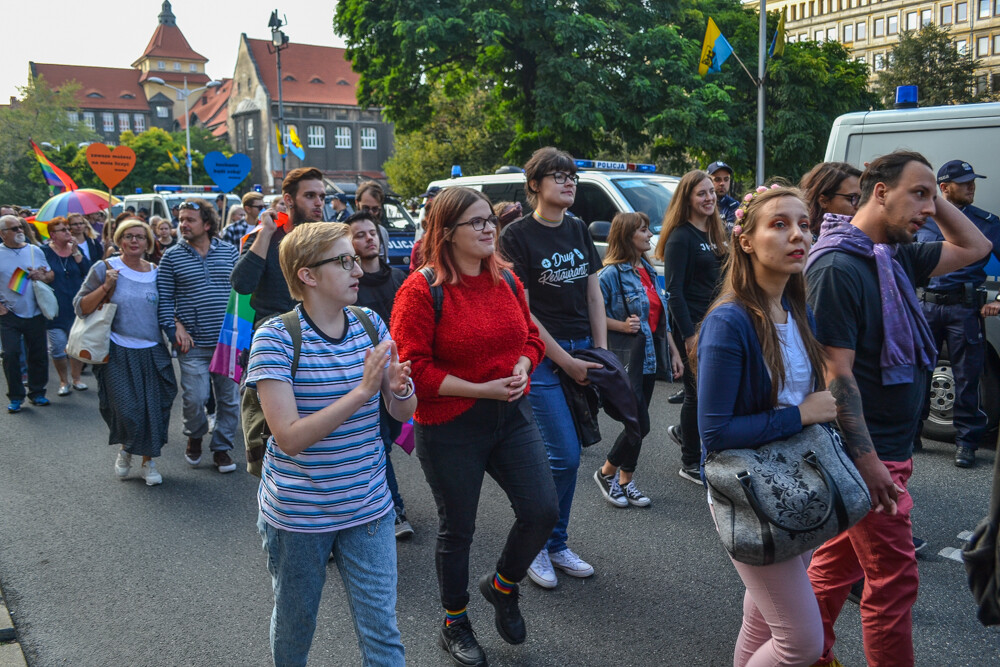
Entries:
{"label": "man in blue striped long-sleeved shirt and faded grey-blue jeans", "polygon": [[160,328],[178,351],[184,432],[184,460],[201,463],[201,441],[209,431],[205,415],[209,383],[215,389],[216,426],[212,432],[212,462],[220,473],[233,472],[229,455],[239,420],[238,387],[228,377],[209,372],[229,302],[229,276],[236,266],[236,248],[216,238],[215,209],[203,199],[180,205],[181,240],[160,260],[156,288]]}

